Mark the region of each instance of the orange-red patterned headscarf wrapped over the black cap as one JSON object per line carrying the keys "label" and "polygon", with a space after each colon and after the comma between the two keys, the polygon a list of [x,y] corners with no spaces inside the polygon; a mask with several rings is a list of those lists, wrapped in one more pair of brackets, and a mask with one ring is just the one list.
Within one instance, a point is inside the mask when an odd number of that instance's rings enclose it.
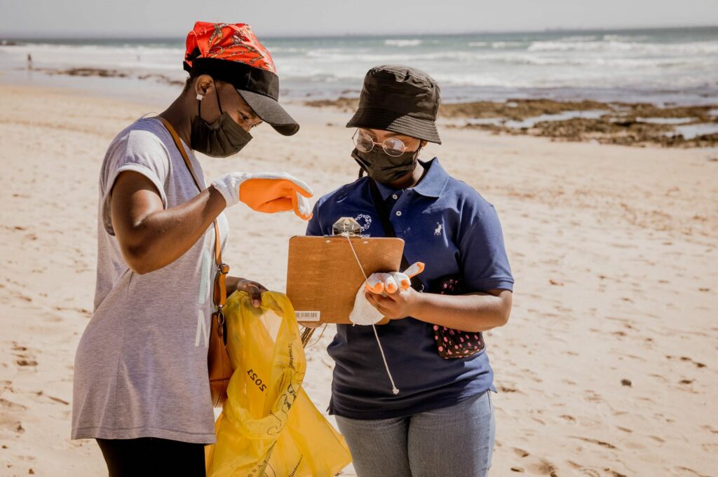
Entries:
{"label": "orange-red patterned headscarf wrapped over the black cap", "polygon": [[246,23],[197,22],[187,34],[185,70],[198,58],[244,63],[276,74],[274,60]]}

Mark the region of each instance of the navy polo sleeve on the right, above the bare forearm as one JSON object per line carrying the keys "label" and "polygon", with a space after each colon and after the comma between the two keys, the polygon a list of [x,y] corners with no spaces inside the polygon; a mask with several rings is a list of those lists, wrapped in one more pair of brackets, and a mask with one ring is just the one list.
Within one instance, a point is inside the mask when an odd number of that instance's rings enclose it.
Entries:
{"label": "navy polo sleeve on the right, above the bare forearm", "polygon": [[462,220],[460,262],[467,291],[513,291],[513,276],[503,244],[503,232],[493,205],[485,202]]}

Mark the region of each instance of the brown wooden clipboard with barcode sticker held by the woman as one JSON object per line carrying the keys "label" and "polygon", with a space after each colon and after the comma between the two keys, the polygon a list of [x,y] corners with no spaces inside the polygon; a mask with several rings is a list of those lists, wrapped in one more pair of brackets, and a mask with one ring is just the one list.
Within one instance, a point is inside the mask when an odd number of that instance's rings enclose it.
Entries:
{"label": "brown wooden clipboard with barcode sticker held by the woman", "polygon": [[350,323],[349,313],[364,275],[349,240],[367,276],[399,269],[404,253],[404,240],[400,238],[290,238],[286,295],[299,323]]}

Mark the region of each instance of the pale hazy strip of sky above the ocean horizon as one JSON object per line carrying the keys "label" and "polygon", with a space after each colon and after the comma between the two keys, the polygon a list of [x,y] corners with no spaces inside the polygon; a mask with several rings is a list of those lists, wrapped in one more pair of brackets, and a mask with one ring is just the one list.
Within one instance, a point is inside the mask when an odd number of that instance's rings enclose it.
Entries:
{"label": "pale hazy strip of sky above the ocean horizon", "polygon": [[194,22],[260,37],[718,25],[718,0],[3,0],[0,37],[177,37]]}

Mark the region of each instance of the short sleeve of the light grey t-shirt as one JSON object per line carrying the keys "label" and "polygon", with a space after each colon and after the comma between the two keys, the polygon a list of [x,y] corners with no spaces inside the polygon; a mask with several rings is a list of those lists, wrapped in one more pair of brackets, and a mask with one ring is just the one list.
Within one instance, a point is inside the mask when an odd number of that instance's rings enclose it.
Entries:
{"label": "short sleeve of the light grey t-shirt", "polygon": [[162,199],[162,207],[167,209],[164,184],[169,174],[169,152],[154,133],[129,131],[108,148],[101,173],[100,214],[103,226],[110,235],[115,235],[111,217],[112,187],[123,171],[134,171],[149,179]]}

